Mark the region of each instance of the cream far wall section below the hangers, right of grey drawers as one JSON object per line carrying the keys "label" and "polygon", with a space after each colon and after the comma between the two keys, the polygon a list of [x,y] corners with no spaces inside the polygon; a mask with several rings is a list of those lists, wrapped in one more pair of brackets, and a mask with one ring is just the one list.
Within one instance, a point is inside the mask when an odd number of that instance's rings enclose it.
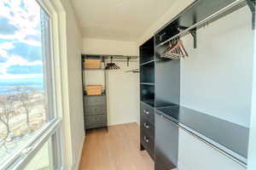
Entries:
{"label": "cream far wall section below the hangers, right of grey drawers", "polygon": [[107,71],[108,124],[137,122],[139,113],[139,74],[125,72],[138,68],[138,61],[115,62],[121,70]]}

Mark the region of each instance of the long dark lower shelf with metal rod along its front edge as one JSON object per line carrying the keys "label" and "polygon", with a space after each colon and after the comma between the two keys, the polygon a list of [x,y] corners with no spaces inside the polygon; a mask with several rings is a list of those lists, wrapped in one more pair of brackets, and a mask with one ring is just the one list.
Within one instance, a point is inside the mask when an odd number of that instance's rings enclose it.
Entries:
{"label": "long dark lower shelf with metal rod along its front edge", "polygon": [[247,167],[248,127],[181,105],[157,107],[156,111],[178,127]]}

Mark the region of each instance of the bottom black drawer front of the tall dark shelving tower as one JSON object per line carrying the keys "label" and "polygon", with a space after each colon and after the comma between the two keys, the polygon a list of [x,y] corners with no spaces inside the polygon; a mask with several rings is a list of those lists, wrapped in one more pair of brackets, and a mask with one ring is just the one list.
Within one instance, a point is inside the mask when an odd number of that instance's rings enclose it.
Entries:
{"label": "bottom black drawer front of the tall dark shelving tower", "polygon": [[148,136],[147,133],[142,131],[141,144],[143,144],[144,149],[148,151],[148,154],[154,160],[154,139],[152,139],[150,136]]}

